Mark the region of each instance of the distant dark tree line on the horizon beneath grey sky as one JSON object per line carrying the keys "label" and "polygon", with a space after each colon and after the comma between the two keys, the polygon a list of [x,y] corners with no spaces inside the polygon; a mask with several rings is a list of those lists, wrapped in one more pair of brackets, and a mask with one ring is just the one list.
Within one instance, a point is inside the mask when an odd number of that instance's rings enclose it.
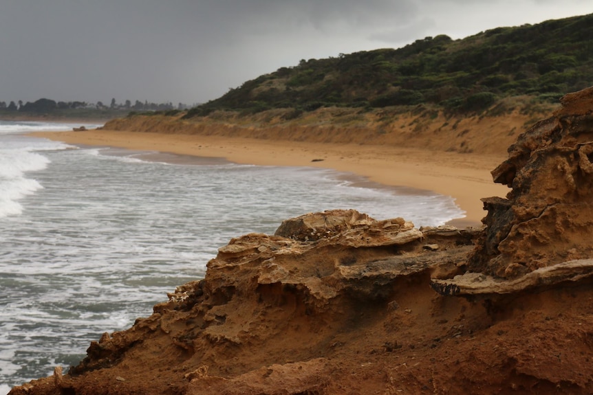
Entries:
{"label": "distant dark tree line on the horizon beneath grey sky", "polygon": [[173,103],[149,103],[148,101],[140,102],[136,100],[134,104],[130,100],[126,100],[123,103],[116,102],[116,99],[111,99],[109,106],[103,104],[103,102],[87,103],[87,102],[56,102],[50,99],[39,99],[35,102],[23,103],[22,100],[17,102],[11,101],[8,104],[6,102],[0,102],[0,111],[21,111],[25,113],[50,113],[55,110],[68,110],[68,109],[99,109],[99,110],[129,110],[129,111],[169,111],[173,109],[184,110],[190,106],[179,103],[177,106],[173,106]]}

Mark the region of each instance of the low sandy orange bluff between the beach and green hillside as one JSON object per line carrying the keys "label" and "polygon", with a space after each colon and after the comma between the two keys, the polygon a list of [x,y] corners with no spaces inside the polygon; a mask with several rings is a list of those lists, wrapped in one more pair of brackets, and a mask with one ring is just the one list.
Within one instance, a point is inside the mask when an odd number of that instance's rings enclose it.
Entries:
{"label": "low sandy orange bluff between the beach and green hillside", "polygon": [[502,102],[499,113],[486,111],[480,115],[449,115],[427,105],[374,111],[330,107],[305,113],[298,120],[286,119],[288,109],[242,116],[231,111],[215,111],[190,119],[184,119],[183,113],[170,116],[155,113],[111,120],[103,129],[504,155],[517,135],[543,116],[542,111],[557,107],[513,100],[519,104]]}

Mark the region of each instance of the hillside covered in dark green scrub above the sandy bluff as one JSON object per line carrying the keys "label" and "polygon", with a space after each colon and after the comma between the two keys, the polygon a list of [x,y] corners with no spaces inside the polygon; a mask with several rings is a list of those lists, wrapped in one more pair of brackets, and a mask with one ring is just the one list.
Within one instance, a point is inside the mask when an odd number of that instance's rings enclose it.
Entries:
{"label": "hillside covered in dark green scrub above the sandy bluff", "polygon": [[556,102],[591,85],[593,14],[498,27],[456,41],[440,35],[400,49],[301,60],[249,80],[186,117],[278,108],[294,109],[298,117],[323,106],[370,110],[422,103],[466,113],[515,95]]}

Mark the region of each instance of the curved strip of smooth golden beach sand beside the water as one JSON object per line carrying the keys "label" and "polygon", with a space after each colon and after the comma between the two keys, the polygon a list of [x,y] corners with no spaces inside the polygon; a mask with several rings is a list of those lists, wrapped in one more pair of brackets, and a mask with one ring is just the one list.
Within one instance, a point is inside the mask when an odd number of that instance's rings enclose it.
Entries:
{"label": "curved strip of smooth golden beach sand beside the water", "polygon": [[508,188],[493,183],[490,171],[505,156],[446,153],[417,148],[360,144],[287,142],[204,135],[125,131],[33,133],[68,144],[110,146],[179,155],[226,158],[260,166],[312,166],[351,172],[383,185],[405,186],[453,196],[466,212],[451,221],[457,227],[479,226],[482,197],[505,196]]}

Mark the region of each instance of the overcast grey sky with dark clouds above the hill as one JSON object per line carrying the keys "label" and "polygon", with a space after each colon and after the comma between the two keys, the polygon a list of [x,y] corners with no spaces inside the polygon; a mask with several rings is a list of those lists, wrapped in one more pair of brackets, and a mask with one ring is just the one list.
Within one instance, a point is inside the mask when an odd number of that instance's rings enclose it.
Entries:
{"label": "overcast grey sky with dark clouds above the hill", "polygon": [[301,59],[592,12],[591,0],[0,0],[0,100],[193,104]]}

